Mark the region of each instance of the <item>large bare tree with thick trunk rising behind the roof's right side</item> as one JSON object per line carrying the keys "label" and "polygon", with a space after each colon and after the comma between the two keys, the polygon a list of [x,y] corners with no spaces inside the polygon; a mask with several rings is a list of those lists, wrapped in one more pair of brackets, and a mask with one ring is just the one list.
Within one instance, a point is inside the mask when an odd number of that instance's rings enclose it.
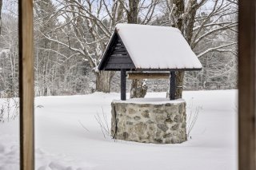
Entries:
{"label": "large bare tree with thick trunk rising behind the roof's right side", "polygon": [[[211,9],[204,9],[206,5],[211,6]],[[174,26],[181,30],[186,41],[198,54],[198,57],[237,44],[236,41],[222,42],[221,44],[213,43],[214,39],[211,39],[208,41],[212,42],[210,45],[203,50],[201,48],[201,42],[210,38],[213,34],[220,34],[223,30],[236,32],[235,27],[238,26],[238,22],[226,20],[227,16],[238,13],[236,1],[166,0],[166,9],[166,21],[162,24]],[[178,71],[176,73],[176,98],[182,97],[183,78],[184,72]]]}

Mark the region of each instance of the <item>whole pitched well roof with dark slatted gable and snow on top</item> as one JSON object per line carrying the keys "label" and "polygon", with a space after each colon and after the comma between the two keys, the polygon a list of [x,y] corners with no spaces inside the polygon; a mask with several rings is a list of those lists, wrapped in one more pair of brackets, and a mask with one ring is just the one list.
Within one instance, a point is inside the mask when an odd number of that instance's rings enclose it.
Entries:
{"label": "whole pitched well roof with dark slatted gable and snow on top", "polygon": [[118,24],[98,69],[199,70],[202,65],[176,28]]}

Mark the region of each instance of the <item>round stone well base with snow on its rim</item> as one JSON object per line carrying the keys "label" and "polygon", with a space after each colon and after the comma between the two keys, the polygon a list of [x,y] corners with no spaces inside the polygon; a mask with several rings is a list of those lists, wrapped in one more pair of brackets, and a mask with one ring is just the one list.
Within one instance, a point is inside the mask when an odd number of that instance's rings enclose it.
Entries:
{"label": "round stone well base with snow on its rim", "polygon": [[112,101],[114,139],[154,144],[186,141],[186,102],[164,98]]}

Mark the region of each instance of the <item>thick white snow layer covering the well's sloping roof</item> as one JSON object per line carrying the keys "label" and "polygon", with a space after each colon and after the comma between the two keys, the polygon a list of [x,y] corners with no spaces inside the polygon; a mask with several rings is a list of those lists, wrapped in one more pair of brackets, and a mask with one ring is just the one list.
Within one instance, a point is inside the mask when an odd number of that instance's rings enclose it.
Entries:
{"label": "thick white snow layer covering the well's sloping roof", "polygon": [[114,34],[122,40],[135,69],[202,69],[198,57],[176,28],[118,24]]}

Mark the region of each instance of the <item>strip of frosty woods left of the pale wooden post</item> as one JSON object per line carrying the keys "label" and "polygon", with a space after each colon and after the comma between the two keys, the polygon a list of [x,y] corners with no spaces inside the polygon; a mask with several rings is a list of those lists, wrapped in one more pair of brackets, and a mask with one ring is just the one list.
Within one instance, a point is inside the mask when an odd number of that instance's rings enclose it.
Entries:
{"label": "strip of frosty woods left of the pale wooden post", "polygon": [[[6,3],[6,6],[11,3]],[[2,15],[0,34],[0,96],[18,96],[18,20],[14,10]]]}

